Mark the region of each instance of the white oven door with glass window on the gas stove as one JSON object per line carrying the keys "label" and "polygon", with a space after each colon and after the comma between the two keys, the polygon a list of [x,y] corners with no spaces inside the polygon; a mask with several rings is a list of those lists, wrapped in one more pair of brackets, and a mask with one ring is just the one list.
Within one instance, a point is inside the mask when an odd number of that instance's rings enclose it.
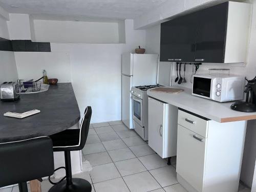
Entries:
{"label": "white oven door with glass window on the gas stove", "polygon": [[133,95],[133,120],[143,126],[143,102]]}

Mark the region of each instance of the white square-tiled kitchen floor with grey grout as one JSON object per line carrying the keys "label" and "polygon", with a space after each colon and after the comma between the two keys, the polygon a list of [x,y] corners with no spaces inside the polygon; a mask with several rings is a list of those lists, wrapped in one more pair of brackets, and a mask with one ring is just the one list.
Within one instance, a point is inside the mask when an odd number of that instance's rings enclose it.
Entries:
{"label": "white square-tiled kitchen floor with grey grout", "polygon": [[[176,158],[168,166],[121,121],[91,124],[82,153],[84,163],[89,161],[93,169],[73,177],[88,180],[93,192],[187,192],[176,180]],[[43,181],[42,192],[51,186]],[[240,191],[250,190],[241,185]],[[18,187],[0,188],[0,192],[18,192]]]}

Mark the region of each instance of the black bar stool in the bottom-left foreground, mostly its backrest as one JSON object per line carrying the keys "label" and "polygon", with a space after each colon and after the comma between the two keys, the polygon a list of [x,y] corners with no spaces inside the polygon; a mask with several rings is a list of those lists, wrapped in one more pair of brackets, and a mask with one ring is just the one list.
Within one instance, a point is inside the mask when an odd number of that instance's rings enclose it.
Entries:
{"label": "black bar stool in the bottom-left foreground, mostly its backrest", "polygon": [[53,174],[52,140],[37,137],[0,143],[0,187],[18,183],[20,192],[27,192],[27,181],[41,180]]}

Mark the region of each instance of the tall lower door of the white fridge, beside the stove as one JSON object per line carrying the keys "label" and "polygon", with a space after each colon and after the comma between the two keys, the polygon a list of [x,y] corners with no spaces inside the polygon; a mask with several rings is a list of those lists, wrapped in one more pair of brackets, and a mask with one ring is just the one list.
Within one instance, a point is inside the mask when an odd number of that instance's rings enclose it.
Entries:
{"label": "tall lower door of the white fridge, beside the stove", "polygon": [[122,75],[122,122],[133,129],[132,94],[133,77]]}

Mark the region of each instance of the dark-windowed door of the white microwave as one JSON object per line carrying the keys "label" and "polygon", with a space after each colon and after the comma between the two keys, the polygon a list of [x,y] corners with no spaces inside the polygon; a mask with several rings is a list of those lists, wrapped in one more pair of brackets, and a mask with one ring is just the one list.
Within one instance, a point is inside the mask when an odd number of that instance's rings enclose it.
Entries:
{"label": "dark-windowed door of the white microwave", "polygon": [[212,99],[212,78],[194,76],[192,94]]}

